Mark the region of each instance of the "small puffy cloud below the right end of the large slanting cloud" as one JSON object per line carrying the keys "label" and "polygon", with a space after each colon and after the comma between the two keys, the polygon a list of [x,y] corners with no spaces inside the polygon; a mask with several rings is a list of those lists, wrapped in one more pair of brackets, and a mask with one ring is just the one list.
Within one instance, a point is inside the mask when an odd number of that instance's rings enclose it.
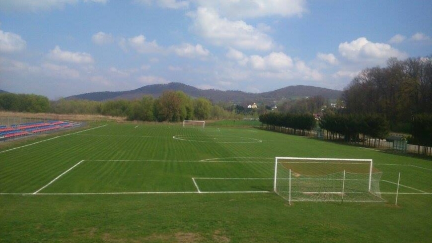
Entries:
{"label": "small puffy cloud below the right end of the large slanting cloud", "polygon": [[253,55],[250,57],[251,65],[257,70],[287,70],[293,66],[292,59],[282,52],[272,52],[266,57]]}

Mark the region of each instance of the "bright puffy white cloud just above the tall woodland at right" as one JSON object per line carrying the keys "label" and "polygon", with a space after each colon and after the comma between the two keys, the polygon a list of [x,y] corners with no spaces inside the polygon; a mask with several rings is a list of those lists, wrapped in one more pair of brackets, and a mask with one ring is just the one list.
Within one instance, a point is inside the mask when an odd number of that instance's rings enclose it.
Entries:
{"label": "bright puffy white cloud just above the tall woodland at right", "polygon": [[370,64],[383,64],[391,57],[398,59],[407,58],[407,54],[392,48],[390,45],[373,43],[365,37],[360,37],[350,43],[344,42],[339,44],[339,53],[350,61]]}

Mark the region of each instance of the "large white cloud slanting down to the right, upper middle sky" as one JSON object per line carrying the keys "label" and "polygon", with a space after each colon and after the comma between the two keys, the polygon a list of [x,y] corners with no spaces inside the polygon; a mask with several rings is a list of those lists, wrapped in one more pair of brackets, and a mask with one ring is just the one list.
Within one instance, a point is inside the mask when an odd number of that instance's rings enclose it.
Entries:
{"label": "large white cloud slanting down to the right, upper middle sky", "polygon": [[262,51],[274,47],[272,38],[267,34],[244,21],[221,18],[213,9],[199,7],[195,13],[188,15],[194,21],[193,30],[214,45]]}

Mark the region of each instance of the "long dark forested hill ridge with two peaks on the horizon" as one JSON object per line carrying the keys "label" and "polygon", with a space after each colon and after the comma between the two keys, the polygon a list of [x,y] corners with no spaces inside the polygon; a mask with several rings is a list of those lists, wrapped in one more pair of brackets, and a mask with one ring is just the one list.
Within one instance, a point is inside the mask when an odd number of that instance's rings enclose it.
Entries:
{"label": "long dark forested hill ridge with two peaks on the horizon", "polygon": [[213,102],[273,102],[275,100],[287,99],[290,97],[305,97],[320,95],[327,99],[339,99],[342,91],[314,86],[288,86],[282,89],[274,90],[265,93],[246,93],[237,90],[215,90],[215,89],[198,89],[183,83],[168,83],[168,84],[152,84],[130,91],[117,92],[93,92],[67,97],[66,99],[82,99],[93,101],[115,100],[115,99],[136,99],[143,95],[151,95],[158,97],[164,91],[174,90],[183,91],[185,94],[192,97],[205,97]]}

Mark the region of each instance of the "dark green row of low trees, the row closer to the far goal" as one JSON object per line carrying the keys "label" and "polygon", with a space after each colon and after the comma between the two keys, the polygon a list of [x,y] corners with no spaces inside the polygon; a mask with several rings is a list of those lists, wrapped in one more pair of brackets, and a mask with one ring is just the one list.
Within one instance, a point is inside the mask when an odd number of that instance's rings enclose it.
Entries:
{"label": "dark green row of low trees, the row closer to the far goal", "polygon": [[315,118],[311,114],[270,112],[259,116],[261,127],[267,130],[306,135],[315,127]]}

